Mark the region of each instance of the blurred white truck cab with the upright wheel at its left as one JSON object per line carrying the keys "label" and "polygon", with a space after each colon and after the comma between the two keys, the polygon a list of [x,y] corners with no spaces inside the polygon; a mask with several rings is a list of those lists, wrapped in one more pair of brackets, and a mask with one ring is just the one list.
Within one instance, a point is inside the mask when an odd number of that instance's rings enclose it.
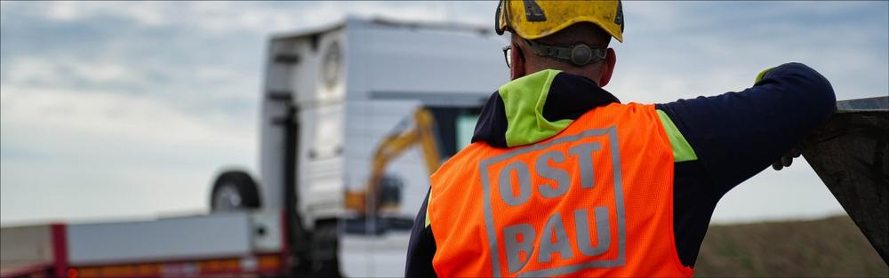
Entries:
{"label": "blurred white truck cab with the upright wheel at its left", "polygon": [[[313,261],[323,274],[403,275],[413,218],[429,187],[424,162],[469,145],[480,108],[509,81],[506,44],[487,27],[357,18],[272,36],[260,172],[256,181],[223,172],[213,210],[284,210],[297,260]],[[380,188],[364,195],[364,203],[388,205],[350,207],[349,193],[372,186],[377,150],[416,126],[418,109],[432,115],[436,154],[405,149],[385,165]]]}

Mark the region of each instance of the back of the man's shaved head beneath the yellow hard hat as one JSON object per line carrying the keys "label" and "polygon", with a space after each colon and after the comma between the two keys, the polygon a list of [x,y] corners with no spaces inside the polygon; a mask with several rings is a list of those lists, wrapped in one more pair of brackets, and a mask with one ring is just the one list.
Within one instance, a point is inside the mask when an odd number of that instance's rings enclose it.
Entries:
{"label": "back of the man's shaved head beneath the yellow hard hat", "polygon": [[[570,45],[582,43],[589,45],[589,47],[591,48],[606,48],[611,42],[611,37],[612,36],[608,35],[605,30],[599,28],[595,24],[589,22],[581,22],[574,24],[568,28],[564,28],[555,34],[541,37],[540,39],[537,39],[535,41],[542,44],[550,45]],[[566,61],[537,56],[533,53],[533,50],[525,47],[525,44],[522,43],[521,39],[522,37],[518,36],[517,34],[512,34],[513,47],[521,45],[522,52],[524,53],[525,57],[524,74],[519,74],[516,76],[514,73],[514,78],[520,77],[522,75],[530,75],[544,69],[558,69],[566,73],[586,76],[596,83],[599,83],[599,85],[601,86],[604,86],[605,83],[607,83],[607,80],[602,80],[603,75],[606,74],[608,79],[610,79],[614,60],[613,51],[608,52],[609,57],[605,60],[599,60],[595,63],[590,63],[584,66],[575,66]],[[612,60],[610,65],[608,60]],[[522,63],[519,62],[518,64]]]}

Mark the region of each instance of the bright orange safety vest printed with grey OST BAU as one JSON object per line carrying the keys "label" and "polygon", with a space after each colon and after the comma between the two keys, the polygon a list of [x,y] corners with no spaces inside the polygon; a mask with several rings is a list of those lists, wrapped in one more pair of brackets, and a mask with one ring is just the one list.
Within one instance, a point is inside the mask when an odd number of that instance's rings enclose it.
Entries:
{"label": "bright orange safety vest printed with grey OST BAU", "polygon": [[673,153],[653,105],[597,107],[533,145],[477,142],[431,177],[443,277],[692,276],[673,236]]}

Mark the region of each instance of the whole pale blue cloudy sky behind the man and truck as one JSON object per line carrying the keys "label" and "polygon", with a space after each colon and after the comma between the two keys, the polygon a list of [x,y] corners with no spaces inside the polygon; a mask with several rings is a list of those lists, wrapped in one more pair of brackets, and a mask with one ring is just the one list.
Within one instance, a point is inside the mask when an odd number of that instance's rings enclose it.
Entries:
{"label": "whole pale blue cloudy sky behind the man and truck", "polygon": [[[271,34],[347,15],[493,27],[494,2],[0,2],[0,224],[205,213],[257,173]],[[837,99],[889,93],[889,2],[637,2],[605,89],[666,102],[741,91],[798,61]],[[504,71],[507,70],[504,67]],[[496,88],[492,88],[492,91]],[[805,161],[766,170],[717,223],[844,213]]]}

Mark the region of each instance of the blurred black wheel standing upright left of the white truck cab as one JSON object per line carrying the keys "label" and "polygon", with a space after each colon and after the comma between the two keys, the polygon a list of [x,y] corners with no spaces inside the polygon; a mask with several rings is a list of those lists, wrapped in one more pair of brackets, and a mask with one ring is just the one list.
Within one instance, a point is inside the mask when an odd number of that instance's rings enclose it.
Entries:
{"label": "blurred black wheel standing upright left of the white truck cab", "polygon": [[224,171],[213,183],[211,211],[257,209],[260,195],[256,183],[244,171]]}

